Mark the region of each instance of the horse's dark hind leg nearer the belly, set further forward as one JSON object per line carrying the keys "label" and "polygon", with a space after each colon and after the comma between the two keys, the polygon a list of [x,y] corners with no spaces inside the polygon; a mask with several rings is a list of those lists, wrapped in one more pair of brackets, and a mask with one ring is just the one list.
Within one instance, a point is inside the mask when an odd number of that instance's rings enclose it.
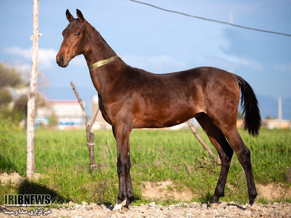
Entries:
{"label": "horse's dark hind leg nearer the belly, set further forward", "polygon": [[220,160],[221,160],[221,171],[220,176],[214,191],[214,194],[210,200],[210,208],[216,208],[219,204],[219,198],[224,196],[224,188],[226,183],[226,178],[228,175],[228,170],[230,166],[230,161],[233,156],[233,149],[228,144],[226,138],[221,133],[219,128],[214,125],[212,120],[208,115],[203,115],[202,117],[196,117],[196,120],[203,128],[207,136],[209,137],[211,143],[216,148]]}

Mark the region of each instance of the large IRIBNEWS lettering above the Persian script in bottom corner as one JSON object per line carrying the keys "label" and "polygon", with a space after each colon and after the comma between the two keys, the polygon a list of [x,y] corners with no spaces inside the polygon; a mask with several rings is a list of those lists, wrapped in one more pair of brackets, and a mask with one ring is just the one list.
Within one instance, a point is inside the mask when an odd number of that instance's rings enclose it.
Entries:
{"label": "large IRIBNEWS lettering above the Persian script in bottom corner", "polygon": [[4,205],[6,207],[35,207],[49,206],[51,196],[49,194],[5,194]]}

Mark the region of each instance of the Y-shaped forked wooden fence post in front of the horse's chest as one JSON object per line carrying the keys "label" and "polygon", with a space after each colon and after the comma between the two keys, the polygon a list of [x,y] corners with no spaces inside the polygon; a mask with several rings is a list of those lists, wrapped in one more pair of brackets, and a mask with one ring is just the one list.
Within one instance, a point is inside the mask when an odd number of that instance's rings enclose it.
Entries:
{"label": "Y-shaped forked wooden fence post in front of the horse's chest", "polygon": [[86,111],[84,109],[84,106],[83,106],[83,103],[82,103],[82,100],[79,96],[79,93],[74,85],[73,82],[71,82],[71,86],[77,96],[77,99],[79,101],[79,104],[81,106],[81,109],[82,109],[82,112],[83,112],[83,116],[85,118],[85,123],[86,123],[86,137],[87,137],[87,146],[88,146],[88,150],[89,150],[89,158],[90,158],[90,169],[93,169],[96,167],[96,164],[95,164],[95,155],[94,155],[94,132],[93,130],[91,130],[93,124],[94,124],[94,121],[97,117],[97,114],[99,112],[99,108],[97,109],[97,111],[95,112],[95,115],[93,117],[93,120],[90,123],[88,123],[88,117],[87,117],[87,114],[86,114]]}

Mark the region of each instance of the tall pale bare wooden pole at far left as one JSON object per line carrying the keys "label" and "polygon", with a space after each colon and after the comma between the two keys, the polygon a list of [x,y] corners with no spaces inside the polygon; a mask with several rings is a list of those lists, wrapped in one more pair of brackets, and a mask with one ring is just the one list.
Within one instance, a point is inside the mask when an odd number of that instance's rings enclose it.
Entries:
{"label": "tall pale bare wooden pole at far left", "polygon": [[34,175],[34,116],[35,116],[35,98],[36,98],[36,81],[38,72],[38,7],[39,0],[33,0],[33,35],[32,54],[31,54],[31,76],[30,92],[27,101],[27,129],[26,129],[26,151],[27,165],[26,176],[32,178]]}

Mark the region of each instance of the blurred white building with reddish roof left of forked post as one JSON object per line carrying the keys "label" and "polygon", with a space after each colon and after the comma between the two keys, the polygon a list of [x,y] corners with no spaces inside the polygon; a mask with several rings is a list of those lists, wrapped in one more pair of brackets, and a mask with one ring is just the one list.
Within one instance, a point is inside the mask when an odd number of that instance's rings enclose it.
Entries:
{"label": "blurred white building with reddish roof left of forked post", "polygon": [[48,100],[45,106],[36,109],[35,122],[56,125],[55,128],[58,129],[85,128],[83,113],[77,100]]}

